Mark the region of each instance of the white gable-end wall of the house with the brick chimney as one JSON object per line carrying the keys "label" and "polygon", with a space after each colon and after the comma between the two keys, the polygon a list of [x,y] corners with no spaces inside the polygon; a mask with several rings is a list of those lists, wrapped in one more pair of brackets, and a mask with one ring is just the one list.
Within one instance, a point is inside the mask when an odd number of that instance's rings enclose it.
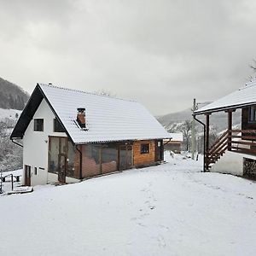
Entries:
{"label": "white gable-end wall of the house with the brick chimney", "polygon": [[[33,119],[44,119],[44,131],[34,131]],[[33,119],[27,126],[23,137],[23,172],[25,172],[25,165],[31,166],[31,183],[32,186],[35,186],[51,182],[49,178],[51,176],[48,177],[49,136],[67,137],[67,135],[64,132],[54,132],[55,114],[44,99],[34,114]],[[35,175],[35,167],[38,168],[37,175]],[[44,170],[39,168],[44,168]],[[23,173],[22,177],[22,183],[24,184],[25,173]]]}

